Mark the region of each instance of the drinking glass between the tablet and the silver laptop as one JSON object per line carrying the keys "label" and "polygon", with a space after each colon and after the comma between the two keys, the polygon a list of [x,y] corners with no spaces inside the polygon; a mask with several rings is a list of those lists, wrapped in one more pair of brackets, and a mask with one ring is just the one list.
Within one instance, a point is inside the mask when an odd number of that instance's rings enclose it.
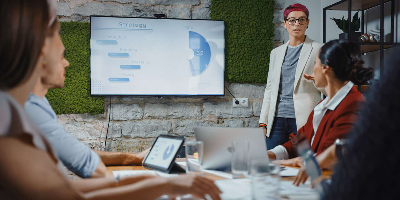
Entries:
{"label": "drinking glass between the tablet and the silver laptop", "polygon": [[185,153],[186,153],[186,173],[202,172],[203,142],[202,141],[185,142]]}

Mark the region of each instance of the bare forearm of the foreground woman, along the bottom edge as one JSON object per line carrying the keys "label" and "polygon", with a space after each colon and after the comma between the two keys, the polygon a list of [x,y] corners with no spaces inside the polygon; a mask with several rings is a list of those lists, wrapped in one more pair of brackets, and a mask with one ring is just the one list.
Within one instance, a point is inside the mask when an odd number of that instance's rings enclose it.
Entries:
{"label": "bare forearm of the foreground woman, along the bottom edge", "polygon": [[137,182],[115,188],[105,188],[93,192],[87,192],[83,196],[86,200],[154,200],[163,194],[170,194],[172,188],[168,185],[168,180],[165,178],[148,178]]}

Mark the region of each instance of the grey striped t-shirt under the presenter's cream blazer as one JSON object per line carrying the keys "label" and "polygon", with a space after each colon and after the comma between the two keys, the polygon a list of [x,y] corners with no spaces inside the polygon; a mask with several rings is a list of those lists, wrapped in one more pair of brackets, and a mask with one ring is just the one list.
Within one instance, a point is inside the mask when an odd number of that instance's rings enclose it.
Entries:
{"label": "grey striped t-shirt under the presenter's cream blazer", "polygon": [[277,117],[296,118],[293,104],[294,76],[303,44],[304,42],[297,46],[288,45],[286,49],[280,72],[278,100],[276,101],[275,116]]}

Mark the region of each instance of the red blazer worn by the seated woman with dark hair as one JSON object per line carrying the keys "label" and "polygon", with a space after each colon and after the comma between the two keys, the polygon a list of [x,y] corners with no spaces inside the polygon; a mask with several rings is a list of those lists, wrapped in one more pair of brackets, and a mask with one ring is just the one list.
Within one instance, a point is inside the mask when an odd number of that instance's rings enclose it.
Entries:
{"label": "red blazer worn by the seated woman with dark hair", "polygon": [[[326,110],[315,134],[311,150],[320,154],[332,145],[336,139],[344,138],[356,122],[359,108],[364,102],[364,96],[354,86],[335,110]],[[311,142],[314,135],[314,128],[312,126],[313,117],[314,110],[308,116],[306,124],[297,131],[297,134],[290,134],[289,141],[283,144],[288,151],[289,158],[298,156],[295,149],[297,141],[306,138],[309,143]]]}

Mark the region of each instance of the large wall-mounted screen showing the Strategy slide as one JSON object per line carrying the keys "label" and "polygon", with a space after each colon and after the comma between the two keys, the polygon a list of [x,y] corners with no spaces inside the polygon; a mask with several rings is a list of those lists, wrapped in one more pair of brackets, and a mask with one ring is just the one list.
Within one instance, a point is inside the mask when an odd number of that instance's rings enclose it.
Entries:
{"label": "large wall-mounted screen showing the Strategy slide", "polygon": [[94,95],[223,95],[224,22],[91,17]]}

